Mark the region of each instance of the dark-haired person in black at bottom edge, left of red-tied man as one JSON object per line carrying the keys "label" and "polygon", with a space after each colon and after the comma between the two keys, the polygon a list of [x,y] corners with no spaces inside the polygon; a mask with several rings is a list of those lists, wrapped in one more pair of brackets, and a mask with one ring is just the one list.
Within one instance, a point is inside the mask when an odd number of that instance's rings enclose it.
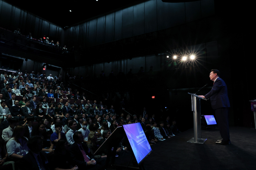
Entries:
{"label": "dark-haired person in black at bottom edge, left of red-tied man", "polygon": [[59,139],[53,154],[54,161],[52,162],[52,165],[54,170],[77,170],[78,166],[74,167],[71,164],[72,158],[70,155],[69,142],[67,142],[67,139]]}

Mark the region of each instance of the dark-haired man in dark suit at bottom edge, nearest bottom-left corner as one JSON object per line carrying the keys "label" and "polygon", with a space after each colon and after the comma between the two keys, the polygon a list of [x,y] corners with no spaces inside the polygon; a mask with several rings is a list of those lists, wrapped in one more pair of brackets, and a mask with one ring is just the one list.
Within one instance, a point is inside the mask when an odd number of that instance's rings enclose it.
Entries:
{"label": "dark-haired man in dark suit at bottom edge, nearest bottom-left corner", "polygon": [[43,139],[40,136],[32,136],[27,142],[30,151],[17,163],[19,170],[49,170],[48,160],[43,148]]}

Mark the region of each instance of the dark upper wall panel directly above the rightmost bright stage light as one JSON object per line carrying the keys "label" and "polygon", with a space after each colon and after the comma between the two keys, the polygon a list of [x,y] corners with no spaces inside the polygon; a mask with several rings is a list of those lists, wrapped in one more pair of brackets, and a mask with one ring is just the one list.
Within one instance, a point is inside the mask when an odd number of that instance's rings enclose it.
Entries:
{"label": "dark upper wall panel directly above the rightmost bright stage light", "polygon": [[201,3],[200,1],[185,3],[186,22],[191,22],[201,18]]}

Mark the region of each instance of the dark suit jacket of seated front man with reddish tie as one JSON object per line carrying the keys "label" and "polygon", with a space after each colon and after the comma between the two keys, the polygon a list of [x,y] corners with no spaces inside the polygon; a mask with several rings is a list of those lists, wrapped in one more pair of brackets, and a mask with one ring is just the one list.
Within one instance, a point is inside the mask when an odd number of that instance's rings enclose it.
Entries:
{"label": "dark suit jacket of seated front man with reddish tie", "polygon": [[[88,152],[87,145],[82,143],[81,146],[84,149],[85,154],[90,157],[90,160],[94,159],[94,156],[90,152]],[[86,169],[86,162],[84,161],[83,153],[81,152],[76,142],[71,144],[71,146],[69,147],[69,151],[71,153],[73,164],[77,165],[79,169]]]}

